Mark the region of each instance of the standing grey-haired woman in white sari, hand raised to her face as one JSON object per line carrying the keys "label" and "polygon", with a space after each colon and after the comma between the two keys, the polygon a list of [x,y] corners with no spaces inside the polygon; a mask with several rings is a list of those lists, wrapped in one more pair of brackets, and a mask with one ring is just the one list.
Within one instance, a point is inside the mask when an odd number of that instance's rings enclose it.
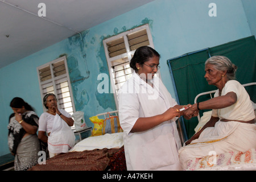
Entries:
{"label": "standing grey-haired woman in white sari, hand raised to her face", "polygon": [[[55,94],[46,94],[46,96],[44,96],[43,98],[43,103],[48,110],[43,113],[39,118],[38,138],[43,142],[48,143],[49,157],[52,158],[53,156],[56,156],[57,154],[60,154],[62,152],[68,152],[73,144],[75,144],[75,135],[70,128],[71,126],[73,126],[74,121],[71,115],[67,113],[67,111],[63,109],[58,109],[57,98]],[[51,132],[52,130],[54,130],[59,131],[59,134],[61,134],[60,130],[63,129],[67,130],[68,133],[63,134],[63,136],[60,135],[58,140],[60,140],[61,137],[64,140],[67,136],[71,135],[71,137],[67,138],[64,141],[65,143],[58,143],[53,137],[51,137]]]}

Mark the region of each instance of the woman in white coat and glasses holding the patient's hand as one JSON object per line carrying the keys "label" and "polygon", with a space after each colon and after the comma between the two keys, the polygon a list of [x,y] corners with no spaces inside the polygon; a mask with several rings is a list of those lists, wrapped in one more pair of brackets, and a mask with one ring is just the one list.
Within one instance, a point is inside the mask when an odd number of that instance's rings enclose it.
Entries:
{"label": "woman in white coat and glasses holding the patient's hand", "polygon": [[180,169],[175,121],[184,111],[156,77],[159,57],[151,47],[138,48],[130,61],[133,76],[118,93],[127,170]]}

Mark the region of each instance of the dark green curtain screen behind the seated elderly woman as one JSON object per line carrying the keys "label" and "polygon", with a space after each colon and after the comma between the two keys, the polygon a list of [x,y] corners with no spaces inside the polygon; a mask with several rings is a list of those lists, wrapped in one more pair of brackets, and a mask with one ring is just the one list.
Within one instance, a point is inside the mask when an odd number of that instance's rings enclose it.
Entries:
{"label": "dark green curtain screen behind the seated elderly woman", "polygon": [[[171,77],[175,82],[176,94],[180,105],[193,104],[197,94],[216,90],[216,86],[208,85],[204,75],[204,63],[210,56],[221,55],[228,57],[238,67],[236,78],[241,84],[256,82],[256,40],[254,36],[239,39],[220,46],[202,49],[167,60]],[[256,102],[256,86],[246,88],[251,100]],[[197,102],[210,99],[201,96]],[[202,115],[203,111],[200,111]],[[189,121],[184,119],[188,138],[195,134],[197,118]]]}

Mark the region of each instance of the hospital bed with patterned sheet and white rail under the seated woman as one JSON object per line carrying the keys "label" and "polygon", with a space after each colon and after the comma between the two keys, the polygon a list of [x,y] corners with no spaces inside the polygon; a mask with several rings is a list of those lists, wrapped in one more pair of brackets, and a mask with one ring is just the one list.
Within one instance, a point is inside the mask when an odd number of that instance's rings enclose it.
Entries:
{"label": "hospital bed with patterned sheet and white rail under the seated woman", "polygon": [[[243,86],[256,85],[256,82],[251,82],[249,84],[243,84]],[[203,92],[195,97],[195,103],[200,96],[215,93],[216,90],[209,92]],[[252,101],[251,101],[252,102]],[[254,105],[254,112],[256,115],[256,104]],[[212,111],[205,111],[203,116],[197,116],[199,123],[195,127],[195,132],[197,133],[204,125],[207,123],[212,115]],[[241,151],[229,151],[225,154],[219,155],[209,155],[204,158],[195,158],[188,162],[188,171],[242,171],[242,170],[254,170],[256,171],[256,148],[250,148],[246,152]]]}

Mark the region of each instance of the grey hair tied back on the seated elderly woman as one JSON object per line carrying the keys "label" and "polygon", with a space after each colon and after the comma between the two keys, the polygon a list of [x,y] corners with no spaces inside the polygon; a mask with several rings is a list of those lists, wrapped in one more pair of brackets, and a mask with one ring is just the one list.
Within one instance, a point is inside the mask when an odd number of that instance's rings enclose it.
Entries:
{"label": "grey hair tied back on the seated elderly woman", "polygon": [[228,80],[236,79],[237,66],[234,65],[228,57],[225,56],[212,56],[207,61],[205,65],[212,64],[218,71],[227,71],[226,76]]}

